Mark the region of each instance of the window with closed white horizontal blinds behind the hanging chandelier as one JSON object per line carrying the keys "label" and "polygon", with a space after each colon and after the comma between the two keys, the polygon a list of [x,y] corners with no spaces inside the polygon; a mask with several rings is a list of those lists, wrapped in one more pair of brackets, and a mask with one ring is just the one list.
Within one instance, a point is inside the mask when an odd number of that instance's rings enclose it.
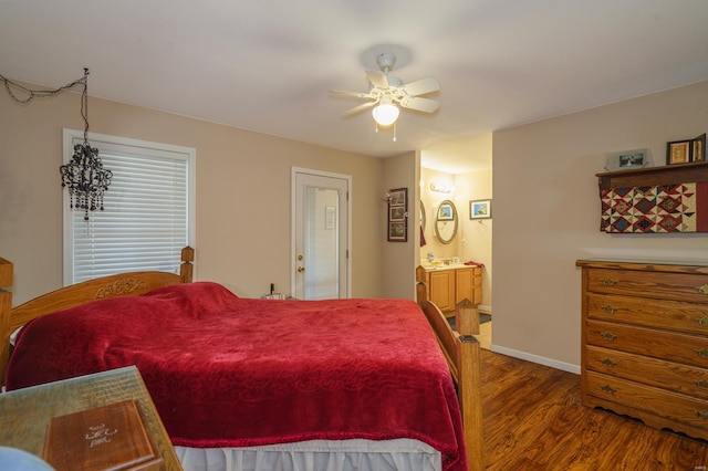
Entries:
{"label": "window with closed white horizontal blinds behind the hanging chandelier", "polygon": [[[67,163],[83,132],[64,129]],[[104,211],[69,207],[63,190],[64,285],[128,271],[179,272],[180,251],[194,244],[195,156],[188,147],[90,134],[113,172]]]}

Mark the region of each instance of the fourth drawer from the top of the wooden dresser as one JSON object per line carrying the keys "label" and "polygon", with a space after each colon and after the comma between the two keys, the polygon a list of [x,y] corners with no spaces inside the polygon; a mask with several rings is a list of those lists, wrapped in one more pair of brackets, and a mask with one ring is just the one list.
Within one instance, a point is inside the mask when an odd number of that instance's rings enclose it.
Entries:
{"label": "fourth drawer from the top of the wooden dresser", "polygon": [[708,369],[594,346],[586,347],[585,366],[589,370],[708,400]]}

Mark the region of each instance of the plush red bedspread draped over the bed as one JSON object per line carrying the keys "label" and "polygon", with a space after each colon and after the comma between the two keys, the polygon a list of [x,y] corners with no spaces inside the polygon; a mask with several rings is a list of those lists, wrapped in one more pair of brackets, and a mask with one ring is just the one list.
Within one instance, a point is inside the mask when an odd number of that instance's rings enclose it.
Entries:
{"label": "plush red bedspread draped over the bed", "polygon": [[248,300],[208,282],[96,301],[29,323],[7,386],[129,365],[175,444],[412,438],[467,469],[455,387],[413,301]]}

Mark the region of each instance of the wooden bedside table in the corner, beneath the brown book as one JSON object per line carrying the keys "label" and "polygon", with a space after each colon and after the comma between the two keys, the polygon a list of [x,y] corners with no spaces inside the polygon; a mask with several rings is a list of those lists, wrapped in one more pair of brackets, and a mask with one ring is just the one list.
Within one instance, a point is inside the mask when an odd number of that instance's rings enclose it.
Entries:
{"label": "wooden bedside table in the corner, beneath the brown book", "polygon": [[42,457],[52,417],[135,399],[164,471],[183,471],[167,431],[135,366],[0,394],[0,446]]}

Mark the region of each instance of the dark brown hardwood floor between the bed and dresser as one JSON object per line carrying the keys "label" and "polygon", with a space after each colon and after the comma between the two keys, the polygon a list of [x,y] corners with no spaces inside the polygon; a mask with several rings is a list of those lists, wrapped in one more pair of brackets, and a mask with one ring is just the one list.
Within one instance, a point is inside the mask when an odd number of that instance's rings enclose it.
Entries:
{"label": "dark brown hardwood floor between the bed and dresser", "polygon": [[708,443],[580,404],[580,376],[482,350],[487,470],[706,470]]}

